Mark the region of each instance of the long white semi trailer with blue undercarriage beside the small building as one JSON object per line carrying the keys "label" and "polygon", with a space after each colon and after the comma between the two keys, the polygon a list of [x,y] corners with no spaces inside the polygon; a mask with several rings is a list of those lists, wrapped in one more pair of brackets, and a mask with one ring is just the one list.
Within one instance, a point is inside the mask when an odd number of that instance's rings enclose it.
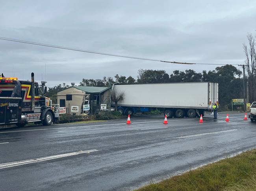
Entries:
{"label": "long white semi trailer with blue undercarriage beside the small building", "polygon": [[182,118],[211,111],[214,103],[219,104],[218,89],[218,83],[214,82],[113,84],[112,93],[124,92],[124,99],[117,104],[123,115],[158,108],[168,118]]}

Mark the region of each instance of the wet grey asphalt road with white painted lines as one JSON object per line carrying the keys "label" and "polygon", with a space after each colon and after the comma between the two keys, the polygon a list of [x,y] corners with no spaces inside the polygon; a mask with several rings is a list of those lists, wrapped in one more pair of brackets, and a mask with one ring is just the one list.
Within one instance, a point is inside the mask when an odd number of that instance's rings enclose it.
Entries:
{"label": "wet grey asphalt road with white painted lines", "polygon": [[132,190],[256,147],[256,123],[243,116],[0,129],[0,190]]}

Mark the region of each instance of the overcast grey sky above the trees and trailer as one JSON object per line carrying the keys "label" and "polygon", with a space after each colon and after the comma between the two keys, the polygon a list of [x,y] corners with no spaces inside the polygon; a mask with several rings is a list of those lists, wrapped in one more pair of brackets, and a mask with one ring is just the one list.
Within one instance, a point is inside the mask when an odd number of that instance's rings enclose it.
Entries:
{"label": "overcast grey sky above the trees and trailer", "polygon": [[[256,34],[255,0],[0,0],[0,36],[90,51],[178,62],[243,64]],[[46,64],[46,74],[45,74]],[[0,72],[48,86],[138,69],[215,69],[95,55],[0,40]]]}

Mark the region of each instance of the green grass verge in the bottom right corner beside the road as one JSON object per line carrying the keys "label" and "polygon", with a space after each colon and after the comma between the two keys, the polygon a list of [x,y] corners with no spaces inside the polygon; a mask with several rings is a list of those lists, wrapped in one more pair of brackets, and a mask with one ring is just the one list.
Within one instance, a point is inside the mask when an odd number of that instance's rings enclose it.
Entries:
{"label": "green grass verge in the bottom right corner beside the road", "polygon": [[256,149],[137,191],[256,191]]}

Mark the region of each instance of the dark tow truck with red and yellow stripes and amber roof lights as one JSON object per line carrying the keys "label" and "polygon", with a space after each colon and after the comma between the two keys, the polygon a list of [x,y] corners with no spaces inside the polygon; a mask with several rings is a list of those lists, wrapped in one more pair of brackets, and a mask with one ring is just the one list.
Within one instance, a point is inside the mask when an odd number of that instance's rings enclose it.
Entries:
{"label": "dark tow truck with red and yellow stripes and amber roof lights", "polygon": [[50,98],[45,96],[46,82],[39,85],[31,73],[31,81],[16,77],[0,76],[0,126],[27,123],[42,123],[45,126],[56,122],[59,109],[52,107]]}

